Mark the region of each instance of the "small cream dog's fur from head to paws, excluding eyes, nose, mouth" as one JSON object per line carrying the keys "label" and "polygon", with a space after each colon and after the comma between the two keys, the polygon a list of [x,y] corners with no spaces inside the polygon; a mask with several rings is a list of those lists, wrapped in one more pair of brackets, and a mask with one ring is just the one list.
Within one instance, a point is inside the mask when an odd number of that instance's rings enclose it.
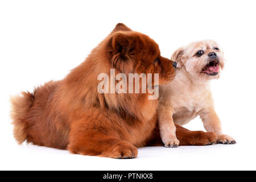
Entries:
{"label": "small cream dog's fur from head to paws, excluding eyes, nose, mouth", "polygon": [[[199,51],[204,54],[196,55]],[[214,111],[210,80],[219,78],[220,70],[215,76],[202,72],[213,60],[209,59],[210,52],[216,53],[214,59],[219,61],[218,67],[223,69],[223,52],[213,40],[193,42],[177,49],[171,57],[172,61],[177,62],[176,77],[170,84],[160,86],[158,110],[160,135],[166,147],[179,146],[174,123],[185,125],[198,115],[205,129],[217,134],[218,143],[236,143],[232,137],[222,134],[220,119]]]}

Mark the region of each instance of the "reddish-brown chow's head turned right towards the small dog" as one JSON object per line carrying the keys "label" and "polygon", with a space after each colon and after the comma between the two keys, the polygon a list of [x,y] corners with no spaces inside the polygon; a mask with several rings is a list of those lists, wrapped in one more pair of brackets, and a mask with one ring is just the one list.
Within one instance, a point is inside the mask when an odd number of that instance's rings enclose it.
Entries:
{"label": "reddish-brown chow's head turned right towards the small dog", "polygon": [[112,68],[121,73],[159,73],[159,84],[175,77],[176,64],[160,56],[158,44],[147,35],[118,23],[109,35],[106,53]]}

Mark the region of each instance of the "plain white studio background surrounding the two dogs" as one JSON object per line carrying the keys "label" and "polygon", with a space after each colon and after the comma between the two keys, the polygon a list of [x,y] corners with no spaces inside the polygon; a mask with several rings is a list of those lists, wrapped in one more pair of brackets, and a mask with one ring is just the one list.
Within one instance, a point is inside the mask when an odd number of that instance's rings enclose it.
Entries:
{"label": "plain white studio background surrounding the two dogs", "polygon": [[[0,169],[256,169],[255,1],[0,1]],[[149,35],[162,56],[214,39],[226,66],[212,82],[225,134],[236,145],[144,147],[137,159],[72,155],[13,139],[10,95],[63,78],[116,23]],[[204,130],[200,119],[188,125]]]}

